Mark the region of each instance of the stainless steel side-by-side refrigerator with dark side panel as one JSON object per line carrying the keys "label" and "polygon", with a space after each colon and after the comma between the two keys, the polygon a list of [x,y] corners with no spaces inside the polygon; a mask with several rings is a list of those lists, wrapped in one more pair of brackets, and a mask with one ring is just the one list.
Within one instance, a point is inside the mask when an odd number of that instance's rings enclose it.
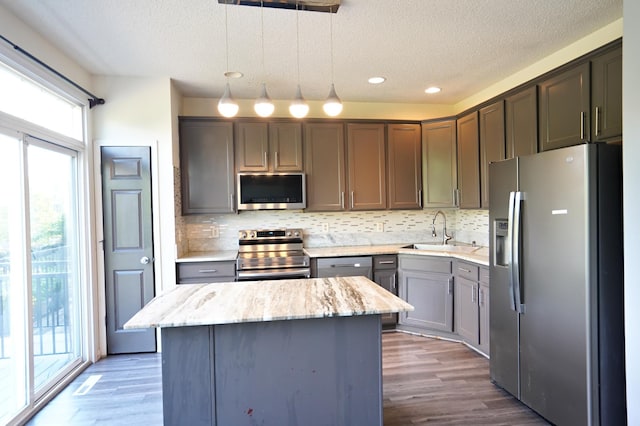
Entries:
{"label": "stainless steel side-by-side refrigerator with dark side panel", "polygon": [[626,424],[621,148],[492,163],[491,380],[557,425]]}

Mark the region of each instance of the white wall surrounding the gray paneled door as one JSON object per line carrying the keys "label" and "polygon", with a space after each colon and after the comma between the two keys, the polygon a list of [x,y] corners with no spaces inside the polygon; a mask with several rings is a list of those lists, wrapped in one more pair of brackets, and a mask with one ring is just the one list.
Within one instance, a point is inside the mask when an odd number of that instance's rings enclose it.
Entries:
{"label": "white wall surrounding the gray paneled door", "polygon": [[[174,286],[176,281],[173,179],[174,166],[178,162],[175,158],[177,103],[172,99],[176,93],[169,78],[98,76],[94,79],[94,87],[106,99],[104,105],[92,112],[96,156],[99,155],[98,146],[151,147],[157,294]],[[97,161],[96,158],[96,169],[99,169]],[[99,203],[98,195],[96,202]],[[101,289],[100,317],[104,318],[104,284]],[[102,331],[101,348],[104,348],[104,328]]]}

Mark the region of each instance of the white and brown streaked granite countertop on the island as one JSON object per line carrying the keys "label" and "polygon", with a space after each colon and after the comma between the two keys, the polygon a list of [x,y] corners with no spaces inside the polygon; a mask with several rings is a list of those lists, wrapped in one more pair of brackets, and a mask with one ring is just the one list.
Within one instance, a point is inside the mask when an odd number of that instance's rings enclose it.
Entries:
{"label": "white and brown streaked granite countertop on the island", "polygon": [[178,285],[145,305],[126,329],[373,315],[413,306],[365,277]]}

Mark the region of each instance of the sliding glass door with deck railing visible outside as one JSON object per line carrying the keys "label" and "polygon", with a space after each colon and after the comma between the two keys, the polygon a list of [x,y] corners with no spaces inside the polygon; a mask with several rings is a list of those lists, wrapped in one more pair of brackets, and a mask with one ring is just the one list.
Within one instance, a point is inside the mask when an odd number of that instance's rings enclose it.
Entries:
{"label": "sliding glass door with deck railing visible outside", "polygon": [[82,355],[76,152],[8,134],[0,133],[0,424]]}

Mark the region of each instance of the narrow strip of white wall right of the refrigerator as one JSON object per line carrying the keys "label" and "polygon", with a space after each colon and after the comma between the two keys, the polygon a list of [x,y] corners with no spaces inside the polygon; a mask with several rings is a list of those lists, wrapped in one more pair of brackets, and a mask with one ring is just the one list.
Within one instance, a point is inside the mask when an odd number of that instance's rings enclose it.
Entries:
{"label": "narrow strip of white wall right of the refrigerator", "polygon": [[628,424],[640,425],[640,2],[624,2],[623,173]]}

